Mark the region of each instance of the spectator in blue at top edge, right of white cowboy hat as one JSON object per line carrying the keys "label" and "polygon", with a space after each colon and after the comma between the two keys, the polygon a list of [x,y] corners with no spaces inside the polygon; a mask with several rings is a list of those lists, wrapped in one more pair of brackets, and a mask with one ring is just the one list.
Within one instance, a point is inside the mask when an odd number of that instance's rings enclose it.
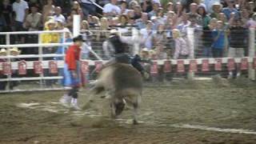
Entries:
{"label": "spectator in blue at top edge, right of white cowboy hat", "polygon": [[224,13],[226,15],[227,20],[230,19],[230,14],[234,13],[235,14],[235,18],[238,19],[239,18],[239,12],[238,10],[236,10],[234,8],[234,0],[226,0],[227,3],[227,7],[224,7],[222,9],[222,13]]}

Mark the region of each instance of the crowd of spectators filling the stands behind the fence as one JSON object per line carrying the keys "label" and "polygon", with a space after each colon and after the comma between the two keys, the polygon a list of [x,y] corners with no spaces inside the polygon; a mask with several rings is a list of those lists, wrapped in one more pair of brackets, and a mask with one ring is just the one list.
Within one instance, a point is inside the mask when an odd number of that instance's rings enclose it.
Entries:
{"label": "crowd of spectators filling the stands behind the fence", "polygon": [[[100,8],[102,6],[102,9]],[[221,58],[248,54],[248,30],[256,27],[253,0],[2,0],[0,31],[73,30],[74,14],[81,15],[86,38],[82,58],[90,49],[102,52],[107,30],[129,35],[139,30],[142,58]],[[194,28],[194,43],[188,30]],[[10,43],[38,43],[37,35],[15,35]],[[43,43],[70,42],[59,34],[42,34]],[[0,35],[0,44],[6,39]],[[194,50],[191,50],[191,47]],[[97,51],[97,52],[98,52]],[[38,50],[22,49],[22,54]],[[63,53],[48,47],[44,54]]]}

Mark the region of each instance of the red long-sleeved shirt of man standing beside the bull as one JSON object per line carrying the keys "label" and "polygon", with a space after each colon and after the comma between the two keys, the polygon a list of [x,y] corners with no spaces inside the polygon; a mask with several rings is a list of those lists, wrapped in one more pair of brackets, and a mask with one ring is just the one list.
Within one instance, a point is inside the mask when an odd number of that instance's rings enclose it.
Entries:
{"label": "red long-sleeved shirt of man standing beside the bull", "polygon": [[81,49],[76,45],[72,45],[66,50],[66,64],[69,70],[77,69],[76,61],[80,60],[80,52]]}

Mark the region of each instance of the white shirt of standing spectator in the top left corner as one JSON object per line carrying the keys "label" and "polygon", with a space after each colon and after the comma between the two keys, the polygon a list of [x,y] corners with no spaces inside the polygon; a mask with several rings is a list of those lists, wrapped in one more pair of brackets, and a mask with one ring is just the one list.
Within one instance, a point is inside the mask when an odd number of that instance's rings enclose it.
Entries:
{"label": "white shirt of standing spectator in the top left corner", "polygon": [[13,3],[13,10],[16,14],[15,21],[24,22],[26,9],[29,9],[29,6],[26,1],[21,0],[21,2],[14,2]]}

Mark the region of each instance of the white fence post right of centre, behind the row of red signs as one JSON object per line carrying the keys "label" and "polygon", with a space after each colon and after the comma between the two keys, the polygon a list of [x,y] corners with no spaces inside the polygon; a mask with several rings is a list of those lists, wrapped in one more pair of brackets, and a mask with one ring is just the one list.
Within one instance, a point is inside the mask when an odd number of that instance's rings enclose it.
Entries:
{"label": "white fence post right of centre, behind the row of red signs", "polygon": [[[190,59],[194,59],[194,28],[188,27],[186,30],[187,30],[186,31],[187,39],[188,39],[189,46],[190,46]],[[188,74],[187,74],[187,78],[189,80],[193,80],[194,79],[194,72],[189,71]]]}

